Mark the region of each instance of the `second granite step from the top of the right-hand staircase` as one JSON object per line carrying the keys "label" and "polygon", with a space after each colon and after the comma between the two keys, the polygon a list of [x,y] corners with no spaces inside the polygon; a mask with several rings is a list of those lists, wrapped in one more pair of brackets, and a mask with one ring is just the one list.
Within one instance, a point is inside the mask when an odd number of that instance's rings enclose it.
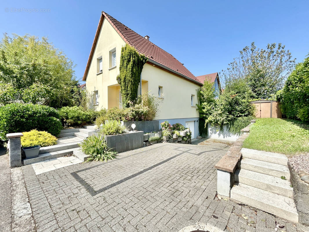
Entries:
{"label": "second granite step from the top of the right-hand staircase", "polygon": [[238,168],[276,177],[285,176],[286,179],[290,179],[290,171],[286,165],[274,164],[249,158],[242,158],[240,162],[238,162]]}

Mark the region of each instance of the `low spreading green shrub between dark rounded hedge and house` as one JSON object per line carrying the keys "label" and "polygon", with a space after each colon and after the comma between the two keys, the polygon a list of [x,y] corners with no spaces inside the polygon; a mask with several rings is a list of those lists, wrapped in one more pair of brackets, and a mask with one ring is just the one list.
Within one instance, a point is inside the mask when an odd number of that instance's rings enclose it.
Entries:
{"label": "low spreading green shrub between dark rounded hedge and house", "polygon": [[65,127],[80,126],[92,122],[94,111],[84,111],[81,106],[65,106],[59,110],[59,114]]}

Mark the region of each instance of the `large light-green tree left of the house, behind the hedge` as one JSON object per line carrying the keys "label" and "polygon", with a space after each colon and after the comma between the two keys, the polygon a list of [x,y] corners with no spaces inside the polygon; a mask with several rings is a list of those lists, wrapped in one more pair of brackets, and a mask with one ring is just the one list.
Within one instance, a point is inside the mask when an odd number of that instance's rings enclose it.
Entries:
{"label": "large light-green tree left of the house, behind the hedge", "polygon": [[46,37],[4,34],[0,42],[0,84],[10,84],[15,101],[55,108],[74,105],[74,67]]}

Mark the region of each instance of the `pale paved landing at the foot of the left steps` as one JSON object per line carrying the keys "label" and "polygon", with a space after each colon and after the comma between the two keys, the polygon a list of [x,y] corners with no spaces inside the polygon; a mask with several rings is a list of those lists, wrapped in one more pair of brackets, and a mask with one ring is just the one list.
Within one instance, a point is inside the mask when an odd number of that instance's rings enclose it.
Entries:
{"label": "pale paved landing at the foot of the left steps", "polygon": [[75,156],[63,156],[54,159],[44,160],[32,163],[32,168],[36,175],[63,168],[73,164],[81,163],[82,161]]}

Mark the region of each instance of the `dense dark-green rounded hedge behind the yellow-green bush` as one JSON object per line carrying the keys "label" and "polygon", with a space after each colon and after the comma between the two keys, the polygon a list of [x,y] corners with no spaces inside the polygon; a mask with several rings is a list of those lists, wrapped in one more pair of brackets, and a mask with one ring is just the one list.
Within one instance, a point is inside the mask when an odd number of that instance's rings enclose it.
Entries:
{"label": "dense dark-green rounded hedge behind the yellow-green bush", "polygon": [[57,136],[62,129],[57,110],[46,105],[11,103],[0,107],[0,139],[6,134],[23,131],[47,131]]}

